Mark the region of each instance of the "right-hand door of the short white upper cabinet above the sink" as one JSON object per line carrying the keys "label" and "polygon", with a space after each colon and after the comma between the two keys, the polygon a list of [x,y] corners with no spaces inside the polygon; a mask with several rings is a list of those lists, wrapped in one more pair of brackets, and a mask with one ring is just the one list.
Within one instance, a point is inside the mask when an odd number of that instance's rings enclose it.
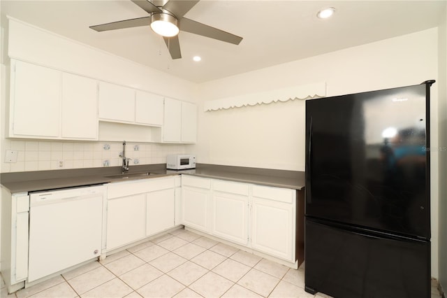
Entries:
{"label": "right-hand door of the short white upper cabinet above the sink", "polygon": [[163,97],[137,91],[135,97],[135,122],[145,125],[163,125]]}

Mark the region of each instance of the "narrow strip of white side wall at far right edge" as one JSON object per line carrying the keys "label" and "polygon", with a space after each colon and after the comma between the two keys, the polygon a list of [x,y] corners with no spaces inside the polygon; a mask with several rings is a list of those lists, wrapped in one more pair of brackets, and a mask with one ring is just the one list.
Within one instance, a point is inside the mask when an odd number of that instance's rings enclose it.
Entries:
{"label": "narrow strip of white side wall at far right edge", "polygon": [[439,27],[439,282],[447,295],[447,7],[443,15]]}

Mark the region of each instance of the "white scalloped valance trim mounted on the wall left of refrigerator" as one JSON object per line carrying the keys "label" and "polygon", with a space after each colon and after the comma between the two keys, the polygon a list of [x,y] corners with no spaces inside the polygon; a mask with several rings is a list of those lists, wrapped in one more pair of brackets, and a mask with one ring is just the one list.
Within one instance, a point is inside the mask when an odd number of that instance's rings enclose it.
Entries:
{"label": "white scalloped valance trim mounted on the wall left of refrigerator", "polygon": [[237,97],[227,97],[205,101],[204,111],[218,111],[228,108],[241,108],[242,106],[256,106],[257,104],[271,104],[295,99],[312,99],[326,96],[326,83],[300,85],[265,92],[244,94]]}

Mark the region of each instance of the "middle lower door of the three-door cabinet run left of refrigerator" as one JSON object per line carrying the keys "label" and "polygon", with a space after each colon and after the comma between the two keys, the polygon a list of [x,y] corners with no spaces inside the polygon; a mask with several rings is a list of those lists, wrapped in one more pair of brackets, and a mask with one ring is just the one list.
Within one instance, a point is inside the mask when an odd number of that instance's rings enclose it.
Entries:
{"label": "middle lower door of the three-door cabinet run left of refrigerator", "polygon": [[212,194],[212,234],[247,246],[249,197],[227,192]]}

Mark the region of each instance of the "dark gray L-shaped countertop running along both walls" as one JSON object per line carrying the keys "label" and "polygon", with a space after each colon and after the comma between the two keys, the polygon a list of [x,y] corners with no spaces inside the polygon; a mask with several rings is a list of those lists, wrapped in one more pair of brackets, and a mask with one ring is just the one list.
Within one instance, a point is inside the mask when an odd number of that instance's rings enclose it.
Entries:
{"label": "dark gray L-shaped countertop running along both walls", "polygon": [[[221,166],[215,164],[198,164],[195,171],[170,171],[166,164],[150,164],[132,166],[129,174],[149,171],[150,176],[136,176],[126,180],[156,178],[185,173],[189,175],[219,178],[244,183],[254,183],[275,187],[286,187],[300,190],[305,185],[305,173],[302,171],[286,171],[276,169],[259,169],[244,166]],[[54,190],[64,187],[76,187],[124,181],[122,178],[108,176],[119,175],[120,166],[108,168],[89,168],[53,171],[30,171],[0,173],[1,185],[10,192],[31,192],[36,190]]]}

